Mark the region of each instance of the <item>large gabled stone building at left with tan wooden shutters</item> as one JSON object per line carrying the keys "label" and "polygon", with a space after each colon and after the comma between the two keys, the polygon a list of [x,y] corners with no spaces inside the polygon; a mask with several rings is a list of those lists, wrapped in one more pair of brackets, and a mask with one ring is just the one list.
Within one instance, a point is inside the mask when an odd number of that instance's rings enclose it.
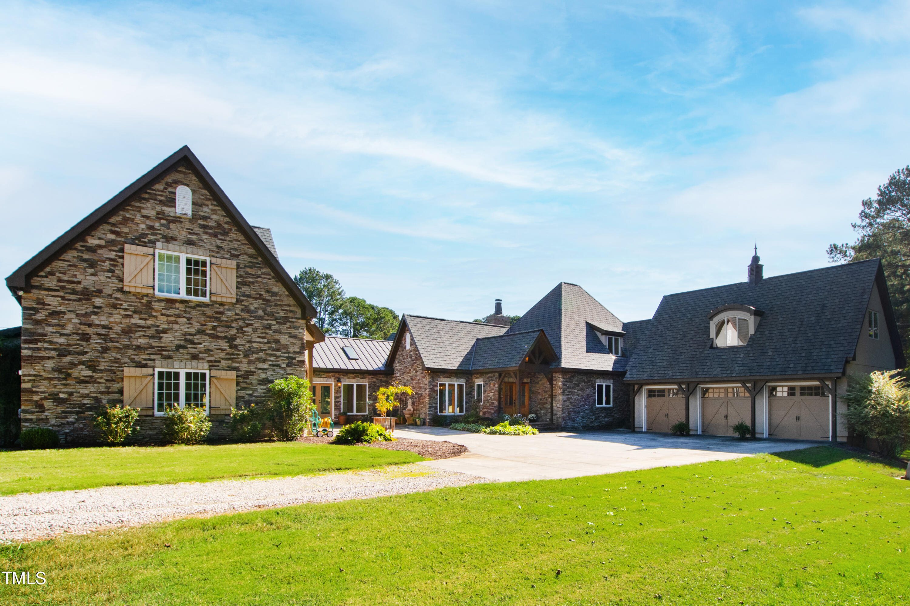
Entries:
{"label": "large gabled stone building at left with tan wooden shutters", "polygon": [[169,406],[204,406],[214,436],[268,384],[312,376],[324,335],[278,262],[187,147],[15,270],[22,306],[22,428],[93,441],[106,404],[139,409],[140,440]]}

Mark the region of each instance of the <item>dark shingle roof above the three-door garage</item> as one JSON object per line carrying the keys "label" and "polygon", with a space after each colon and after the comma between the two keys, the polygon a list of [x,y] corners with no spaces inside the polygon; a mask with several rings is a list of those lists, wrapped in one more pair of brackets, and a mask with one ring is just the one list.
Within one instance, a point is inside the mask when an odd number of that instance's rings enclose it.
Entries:
{"label": "dark shingle roof above the three-door garage", "polygon": [[[872,289],[878,288],[897,367],[904,354],[878,259],[749,283],[668,294],[634,345],[626,381],[713,377],[839,376],[855,354]],[[712,348],[711,310],[729,303],[763,310],[749,342]]]}

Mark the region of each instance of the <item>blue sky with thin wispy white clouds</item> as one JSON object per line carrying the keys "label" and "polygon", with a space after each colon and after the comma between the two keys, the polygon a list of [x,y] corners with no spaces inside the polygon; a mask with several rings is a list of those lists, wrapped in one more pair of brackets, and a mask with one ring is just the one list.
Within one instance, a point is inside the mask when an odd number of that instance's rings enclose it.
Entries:
{"label": "blue sky with thin wispy white clouds", "polygon": [[[291,273],[622,320],[827,263],[910,164],[910,3],[40,3],[0,20],[0,273],[183,144]],[[20,322],[0,297],[0,326]]]}

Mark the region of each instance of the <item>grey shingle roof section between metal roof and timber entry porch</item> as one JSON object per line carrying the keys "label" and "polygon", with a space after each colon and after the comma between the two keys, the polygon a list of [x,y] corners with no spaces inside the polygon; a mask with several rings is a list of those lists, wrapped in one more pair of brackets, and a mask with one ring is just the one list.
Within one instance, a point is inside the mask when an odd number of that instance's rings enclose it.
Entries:
{"label": "grey shingle roof section between metal roof and timber entry porch", "polygon": [[470,370],[470,353],[477,339],[498,336],[507,328],[495,324],[408,314],[405,314],[404,321],[410,327],[413,344],[427,368],[463,371]]}

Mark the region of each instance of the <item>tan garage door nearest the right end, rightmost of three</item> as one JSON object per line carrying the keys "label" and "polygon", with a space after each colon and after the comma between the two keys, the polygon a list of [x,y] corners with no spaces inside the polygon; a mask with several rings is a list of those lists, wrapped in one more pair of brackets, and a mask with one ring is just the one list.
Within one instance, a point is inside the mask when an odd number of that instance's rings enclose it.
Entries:
{"label": "tan garage door nearest the right end, rightmost of three", "polygon": [[828,396],[814,386],[773,387],[768,397],[769,437],[828,439]]}

